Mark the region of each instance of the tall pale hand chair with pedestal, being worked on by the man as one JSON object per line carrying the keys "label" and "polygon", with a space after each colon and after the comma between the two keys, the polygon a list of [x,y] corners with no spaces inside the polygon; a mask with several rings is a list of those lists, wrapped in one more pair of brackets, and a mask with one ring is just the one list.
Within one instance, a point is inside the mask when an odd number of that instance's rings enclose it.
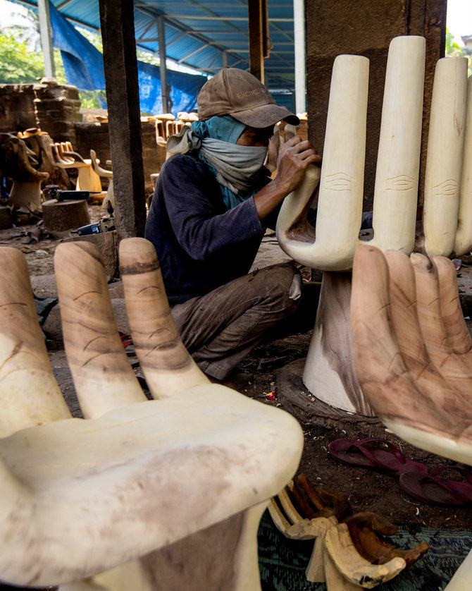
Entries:
{"label": "tall pale hand chair with pedestal, being worked on by the man", "polygon": [[[396,37],[385,77],[373,202],[373,238],[380,250],[409,255],[415,246],[425,39]],[[285,199],[279,244],[298,262],[323,269],[323,289],[304,383],[321,400],[373,415],[352,365],[349,276],[359,244],[364,188],[368,60],[338,56],[328,107],[323,166]],[[306,209],[320,179],[316,232]],[[465,58],[437,62],[431,105],[418,248],[430,256],[459,256],[472,248],[472,78]],[[335,312],[335,313],[333,313]]]}

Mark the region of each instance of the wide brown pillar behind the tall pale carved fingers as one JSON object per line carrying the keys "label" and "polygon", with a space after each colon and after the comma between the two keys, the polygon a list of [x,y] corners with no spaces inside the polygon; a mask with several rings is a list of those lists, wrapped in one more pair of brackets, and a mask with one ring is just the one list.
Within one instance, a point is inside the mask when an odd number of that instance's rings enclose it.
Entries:
{"label": "wide brown pillar behind the tall pale carved fingers", "polygon": [[372,209],[385,66],[397,35],[426,37],[426,80],[421,140],[420,197],[424,184],[434,68],[444,55],[447,0],[311,0],[306,10],[306,87],[309,139],[323,151],[333,61],[339,54],[370,59],[367,113],[365,209]]}

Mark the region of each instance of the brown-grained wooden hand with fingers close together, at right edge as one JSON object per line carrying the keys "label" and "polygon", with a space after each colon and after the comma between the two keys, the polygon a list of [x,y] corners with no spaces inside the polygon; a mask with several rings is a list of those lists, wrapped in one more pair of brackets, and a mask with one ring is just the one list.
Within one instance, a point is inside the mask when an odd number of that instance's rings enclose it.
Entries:
{"label": "brown-grained wooden hand with fingers close together, at right edge", "polygon": [[[411,444],[472,465],[472,341],[452,262],[359,246],[351,322],[359,382],[385,425]],[[469,554],[447,590],[471,585]]]}

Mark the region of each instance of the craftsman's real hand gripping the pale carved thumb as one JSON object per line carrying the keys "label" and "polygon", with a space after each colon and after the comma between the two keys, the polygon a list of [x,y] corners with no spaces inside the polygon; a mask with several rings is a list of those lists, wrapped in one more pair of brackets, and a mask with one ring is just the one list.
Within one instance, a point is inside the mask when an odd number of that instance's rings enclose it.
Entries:
{"label": "craftsman's real hand gripping the pale carved thumb", "polygon": [[280,147],[274,182],[288,195],[303,181],[306,167],[320,162],[321,156],[316,154],[310,142],[295,135]]}

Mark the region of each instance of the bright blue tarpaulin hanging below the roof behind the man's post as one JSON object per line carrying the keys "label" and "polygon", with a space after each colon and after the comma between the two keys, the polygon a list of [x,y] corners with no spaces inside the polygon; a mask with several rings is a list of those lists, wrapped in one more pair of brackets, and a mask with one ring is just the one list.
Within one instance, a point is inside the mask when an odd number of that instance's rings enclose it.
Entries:
{"label": "bright blue tarpaulin hanging below the roof behind the man's post", "polygon": [[[51,27],[53,44],[61,50],[64,70],[69,84],[80,90],[105,90],[104,60],[100,51],[59,13],[53,4]],[[142,112],[159,114],[163,112],[161,97],[161,75],[159,67],[143,61],[137,62],[139,84],[139,106]],[[167,71],[170,87],[172,113],[197,109],[197,95],[206,83],[206,76]]]}

